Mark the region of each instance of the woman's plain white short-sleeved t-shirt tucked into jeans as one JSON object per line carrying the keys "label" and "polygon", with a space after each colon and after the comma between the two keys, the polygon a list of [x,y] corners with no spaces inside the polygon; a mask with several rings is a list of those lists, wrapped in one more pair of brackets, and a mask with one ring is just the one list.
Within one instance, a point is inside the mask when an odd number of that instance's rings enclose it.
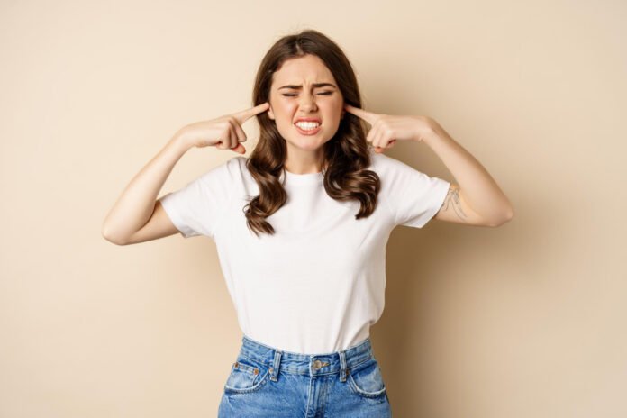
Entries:
{"label": "woman's plain white short-sleeved t-shirt tucked into jeans", "polygon": [[[383,313],[386,243],[396,225],[422,228],[450,183],[370,151],[381,190],[377,209],[326,194],[323,174],[286,171],[288,198],[268,216],[274,235],[249,230],[243,207],[259,187],[246,157],[233,157],[159,200],[185,238],[216,244],[241,331],[279,350],[344,350],[363,341]],[[281,175],[281,180],[283,179]]]}

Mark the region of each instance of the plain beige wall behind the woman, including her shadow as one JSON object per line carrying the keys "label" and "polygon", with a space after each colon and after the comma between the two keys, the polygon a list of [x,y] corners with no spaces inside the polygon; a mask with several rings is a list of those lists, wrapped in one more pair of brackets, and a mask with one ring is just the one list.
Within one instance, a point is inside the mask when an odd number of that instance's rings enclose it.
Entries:
{"label": "plain beige wall behind the woman, including her shadow", "polygon": [[[627,416],[625,22],[618,0],[3,1],[0,416],[215,415],[241,332],[213,241],[118,247],[101,224],[307,27],[364,107],[435,118],[515,209],[393,233],[372,339],[395,416]],[[388,154],[454,180],[424,144]],[[190,150],[159,195],[235,155]]]}

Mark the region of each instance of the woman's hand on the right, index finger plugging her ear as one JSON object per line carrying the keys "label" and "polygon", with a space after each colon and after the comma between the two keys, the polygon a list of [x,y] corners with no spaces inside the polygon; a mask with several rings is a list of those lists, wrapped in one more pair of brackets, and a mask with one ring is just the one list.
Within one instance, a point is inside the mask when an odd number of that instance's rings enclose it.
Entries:
{"label": "woman's hand on the right, index finger plugging her ear", "polygon": [[372,143],[377,153],[394,147],[396,141],[420,142],[433,134],[434,121],[428,116],[373,114],[350,104],[344,104],[344,109],[370,124],[366,141]]}

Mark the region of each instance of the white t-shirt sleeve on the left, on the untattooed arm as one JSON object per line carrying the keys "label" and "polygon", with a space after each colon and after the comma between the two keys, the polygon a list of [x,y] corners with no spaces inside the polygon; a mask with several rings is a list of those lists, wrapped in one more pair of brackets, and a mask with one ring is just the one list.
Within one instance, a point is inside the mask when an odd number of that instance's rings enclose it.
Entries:
{"label": "white t-shirt sleeve on the left, on the untattooed arm", "polygon": [[228,209],[233,186],[233,158],[177,191],[159,197],[159,202],[184,238],[214,233]]}

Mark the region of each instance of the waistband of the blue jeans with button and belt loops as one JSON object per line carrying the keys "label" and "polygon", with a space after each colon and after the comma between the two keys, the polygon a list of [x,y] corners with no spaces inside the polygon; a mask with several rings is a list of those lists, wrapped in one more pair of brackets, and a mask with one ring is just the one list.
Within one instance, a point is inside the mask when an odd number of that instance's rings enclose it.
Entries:
{"label": "waistband of the blue jeans with button and belt loops", "polygon": [[329,375],[341,372],[341,380],[346,378],[346,370],[365,361],[374,359],[370,337],[346,350],[320,354],[303,354],[278,350],[244,335],[241,339],[241,356],[258,361],[270,368],[271,379],[276,380],[278,370],[299,375]]}

